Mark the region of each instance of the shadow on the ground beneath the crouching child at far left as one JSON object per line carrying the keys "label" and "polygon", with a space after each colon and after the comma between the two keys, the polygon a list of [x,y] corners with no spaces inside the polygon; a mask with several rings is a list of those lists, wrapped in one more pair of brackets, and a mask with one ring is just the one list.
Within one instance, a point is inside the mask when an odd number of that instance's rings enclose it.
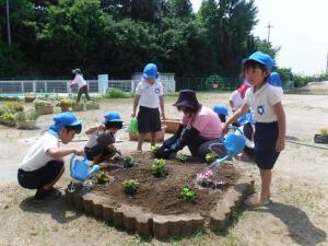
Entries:
{"label": "shadow on the ground beneath the crouching child at far left", "polygon": [[28,197],[21,202],[20,208],[23,211],[31,213],[48,213],[54,220],[61,224],[68,223],[83,215],[70,208],[70,206],[66,204],[63,198],[45,203],[35,203],[33,201],[33,197]]}

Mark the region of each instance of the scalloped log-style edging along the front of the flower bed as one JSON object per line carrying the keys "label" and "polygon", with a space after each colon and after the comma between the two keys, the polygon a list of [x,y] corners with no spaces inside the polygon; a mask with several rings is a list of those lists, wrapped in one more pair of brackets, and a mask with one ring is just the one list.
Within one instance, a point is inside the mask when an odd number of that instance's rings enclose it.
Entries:
{"label": "scalloped log-style edging along the front of the flower bed", "polygon": [[[254,192],[254,179],[242,178],[234,187],[230,187],[223,194],[223,199],[210,211],[209,227],[213,231],[224,229],[245,197]],[[96,218],[103,218],[108,224],[124,229],[128,233],[138,233],[141,236],[167,238],[172,236],[188,236],[204,231],[206,219],[199,213],[179,215],[160,215],[144,212],[137,206],[127,206],[115,202],[114,199],[105,199],[94,191],[68,192],[66,201],[85,213]]]}

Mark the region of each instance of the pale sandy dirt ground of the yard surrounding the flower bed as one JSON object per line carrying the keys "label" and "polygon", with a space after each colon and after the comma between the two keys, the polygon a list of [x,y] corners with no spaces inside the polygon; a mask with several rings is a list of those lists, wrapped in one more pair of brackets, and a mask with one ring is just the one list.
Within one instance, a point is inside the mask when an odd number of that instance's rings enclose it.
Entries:
{"label": "pale sandy dirt ground of the yard surrounding the flower bed", "polygon": [[[199,93],[199,101],[212,107],[227,104],[229,94]],[[179,118],[172,106],[176,97],[166,97],[167,118]],[[284,95],[288,119],[286,145],[276,166],[272,180],[274,202],[254,210],[242,208],[233,214],[231,226],[220,233],[207,231],[189,238],[169,238],[164,242],[144,239],[106,225],[73,208],[63,200],[35,206],[33,190],[16,183],[16,168],[27,148],[42,136],[52,116],[39,119],[39,129],[17,130],[0,126],[0,245],[328,245],[328,145],[314,144],[313,137],[320,127],[328,127],[327,95]],[[132,99],[104,101],[99,110],[77,115],[83,127],[97,125],[105,110],[120,112],[126,121],[131,114]],[[117,147],[133,151],[136,142],[121,130]],[[73,145],[83,147],[86,137],[75,138]],[[144,150],[149,150],[147,143]],[[67,167],[68,161],[67,157]],[[258,188],[258,171],[249,163]],[[68,168],[67,168],[68,169]],[[63,190],[69,172],[58,183]]]}

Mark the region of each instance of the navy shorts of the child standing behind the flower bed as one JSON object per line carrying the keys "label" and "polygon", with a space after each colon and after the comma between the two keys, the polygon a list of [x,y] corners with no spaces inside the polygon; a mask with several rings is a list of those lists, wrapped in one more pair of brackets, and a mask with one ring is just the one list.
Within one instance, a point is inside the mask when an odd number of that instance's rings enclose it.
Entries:
{"label": "navy shorts of the child standing behind the flower bed", "polygon": [[161,118],[159,108],[139,107],[138,132],[151,132],[161,130]]}

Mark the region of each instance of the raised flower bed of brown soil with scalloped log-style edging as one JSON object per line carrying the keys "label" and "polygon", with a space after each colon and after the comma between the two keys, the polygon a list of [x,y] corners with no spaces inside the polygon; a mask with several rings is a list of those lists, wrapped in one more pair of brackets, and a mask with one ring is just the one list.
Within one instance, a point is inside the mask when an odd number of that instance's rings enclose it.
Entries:
{"label": "raised flower bed of brown soil with scalloped log-style edging", "polygon": [[[253,191],[251,178],[232,164],[223,165],[212,175],[215,186],[203,188],[196,177],[206,164],[172,160],[165,165],[165,175],[157,176],[150,153],[131,156],[134,166],[104,164],[109,183],[96,185],[92,191],[67,192],[67,201],[129,232],[164,238],[190,235],[204,226],[213,231],[223,229],[232,211]],[[133,185],[133,192],[127,192],[127,185]]]}

